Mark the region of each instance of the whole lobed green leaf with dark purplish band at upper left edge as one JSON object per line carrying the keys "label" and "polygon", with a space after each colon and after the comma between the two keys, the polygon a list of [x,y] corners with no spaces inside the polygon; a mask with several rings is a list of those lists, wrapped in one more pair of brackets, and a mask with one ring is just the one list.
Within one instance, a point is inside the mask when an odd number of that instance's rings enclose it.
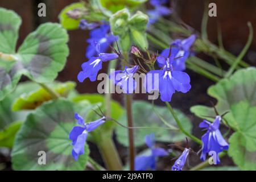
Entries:
{"label": "whole lobed green leaf with dark purplish band at upper left edge", "polygon": [[20,18],[2,8],[0,15],[0,100],[15,89],[22,75],[36,82],[55,80],[68,56],[67,31],[60,24],[42,24],[15,53]]}

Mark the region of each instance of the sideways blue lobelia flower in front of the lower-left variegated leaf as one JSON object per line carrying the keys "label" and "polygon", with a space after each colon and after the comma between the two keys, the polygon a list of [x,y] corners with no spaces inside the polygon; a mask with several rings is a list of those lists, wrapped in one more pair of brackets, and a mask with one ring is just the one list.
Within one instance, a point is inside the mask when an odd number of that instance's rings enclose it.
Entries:
{"label": "sideways blue lobelia flower in front of the lower-left variegated leaf", "polygon": [[105,117],[102,117],[96,121],[85,123],[84,119],[79,115],[75,114],[77,123],[82,126],[74,126],[69,133],[69,139],[72,140],[73,150],[72,155],[75,160],[78,159],[79,155],[84,154],[84,145],[86,142],[87,135],[90,131],[97,129],[98,126],[105,123]]}

